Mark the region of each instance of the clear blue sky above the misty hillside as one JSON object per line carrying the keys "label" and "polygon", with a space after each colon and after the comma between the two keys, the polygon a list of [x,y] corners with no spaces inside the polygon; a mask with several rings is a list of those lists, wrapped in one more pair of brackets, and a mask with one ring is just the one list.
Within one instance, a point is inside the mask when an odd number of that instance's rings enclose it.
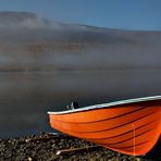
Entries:
{"label": "clear blue sky above the misty hillside", "polygon": [[161,30],[161,0],[0,0],[0,11],[29,11],[62,23]]}

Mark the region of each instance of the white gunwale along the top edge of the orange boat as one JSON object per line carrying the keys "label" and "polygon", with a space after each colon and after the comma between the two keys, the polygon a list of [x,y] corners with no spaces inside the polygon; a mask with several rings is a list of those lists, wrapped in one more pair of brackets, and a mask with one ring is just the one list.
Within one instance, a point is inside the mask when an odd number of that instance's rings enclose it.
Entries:
{"label": "white gunwale along the top edge of the orange boat", "polygon": [[109,103],[88,106],[88,107],[83,107],[83,108],[78,108],[78,109],[65,110],[65,111],[57,111],[57,112],[48,111],[48,114],[70,114],[70,113],[76,113],[76,112],[83,112],[83,111],[111,108],[111,107],[121,106],[121,104],[151,101],[151,100],[161,100],[161,96],[151,96],[151,97],[135,98],[135,99],[126,99],[126,100],[120,100],[120,101],[113,101],[113,102],[109,102]]}

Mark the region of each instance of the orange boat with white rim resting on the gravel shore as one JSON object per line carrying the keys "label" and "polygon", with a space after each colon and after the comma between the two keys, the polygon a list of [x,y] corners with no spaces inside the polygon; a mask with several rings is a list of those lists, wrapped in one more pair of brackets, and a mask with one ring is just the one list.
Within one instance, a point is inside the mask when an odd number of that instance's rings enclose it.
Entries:
{"label": "orange boat with white rim resting on the gravel shore", "polygon": [[53,128],[126,154],[147,153],[161,135],[161,96],[48,113]]}

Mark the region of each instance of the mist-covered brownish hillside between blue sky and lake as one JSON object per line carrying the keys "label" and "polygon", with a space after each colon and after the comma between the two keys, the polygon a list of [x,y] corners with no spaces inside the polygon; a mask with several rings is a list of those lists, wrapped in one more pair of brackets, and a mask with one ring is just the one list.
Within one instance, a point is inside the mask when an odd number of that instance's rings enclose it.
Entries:
{"label": "mist-covered brownish hillside between blue sky and lake", "polygon": [[161,32],[52,22],[0,12],[0,72],[161,67]]}

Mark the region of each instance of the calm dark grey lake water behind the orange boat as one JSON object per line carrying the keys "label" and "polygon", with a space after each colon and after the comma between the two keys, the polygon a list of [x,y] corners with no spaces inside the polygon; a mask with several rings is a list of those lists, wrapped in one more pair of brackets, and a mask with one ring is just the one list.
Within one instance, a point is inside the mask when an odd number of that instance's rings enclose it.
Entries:
{"label": "calm dark grey lake water behind the orange boat", "polygon": [[161,70],[0,74],[0,138],[51,132],[47,111],[161,95]]}

